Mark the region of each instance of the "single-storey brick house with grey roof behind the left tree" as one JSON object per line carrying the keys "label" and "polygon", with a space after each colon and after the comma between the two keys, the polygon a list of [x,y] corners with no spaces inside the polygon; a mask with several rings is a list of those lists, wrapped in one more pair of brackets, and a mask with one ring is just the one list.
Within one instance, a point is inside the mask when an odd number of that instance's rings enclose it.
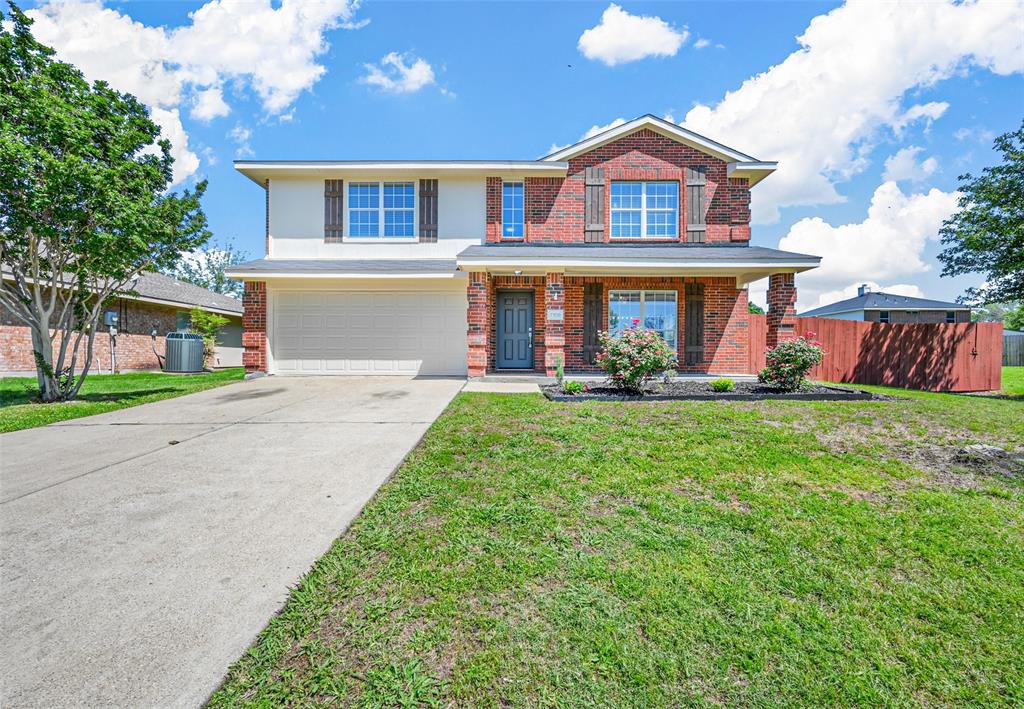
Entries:
{"label": "single-storey brick house with grey roof behind the left tree", "polygon": [[[7,278],[7,277],[5,277]],[[105,312],[118,314],[117,365],[122,372],[160,369],[156,352],[164,354],[168,332],[188,327],[189,310],[200,307],[228,320],[217,338],[215,367],[242,365],[242,302],[177,281],[163,274],[142,274],[132,297],[115,298]],[[93,354],[93,372],[111,371],[110,328],[100,318]],[[0,307],[0,372],[34,372],[32,333],[29,327]]]}

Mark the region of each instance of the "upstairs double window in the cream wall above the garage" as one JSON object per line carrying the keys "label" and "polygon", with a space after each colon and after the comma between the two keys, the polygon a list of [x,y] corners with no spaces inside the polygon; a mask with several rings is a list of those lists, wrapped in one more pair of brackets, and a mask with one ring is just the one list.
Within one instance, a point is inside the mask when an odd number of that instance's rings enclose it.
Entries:
{"label": "upstairs double window in the cream wall above the garage", "polygon": [[351,239],[413,239],[416,183],[349,182],[347,211]]}

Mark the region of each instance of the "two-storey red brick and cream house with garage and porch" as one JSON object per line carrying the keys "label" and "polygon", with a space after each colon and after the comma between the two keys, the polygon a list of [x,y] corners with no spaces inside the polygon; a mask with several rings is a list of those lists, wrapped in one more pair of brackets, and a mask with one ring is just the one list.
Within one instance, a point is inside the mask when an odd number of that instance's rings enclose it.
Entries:
{"label": "two-storey red brick and cream house with garage and porch", "polygon": [[653,116],[541,160],[237,161],[266,198],[245,281],[245,365],[271,374],[595,371],[639,321],[686,372],[750,371],[748,285],[792,337],[794,274],[750,246],[775,170]]}

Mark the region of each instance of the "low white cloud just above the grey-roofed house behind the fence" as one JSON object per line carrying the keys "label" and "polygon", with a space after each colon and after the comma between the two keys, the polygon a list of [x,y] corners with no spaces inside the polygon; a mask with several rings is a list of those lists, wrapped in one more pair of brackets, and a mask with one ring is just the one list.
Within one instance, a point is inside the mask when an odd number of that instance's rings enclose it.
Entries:
{"label": "low white cloud just above the grey-roofed house behind the fence", "polygon": [[812,307],[821,294],[850,284],[930,270],[923,260],[925,246],[938,237],[958,197],[936,189],[905,195],[896,182],[883,182],[871,196],[863,221],[834,226],[820,217],[808,217],[795,223],[778,248],[822,256],[819,267],[797,277],[801,307]]}

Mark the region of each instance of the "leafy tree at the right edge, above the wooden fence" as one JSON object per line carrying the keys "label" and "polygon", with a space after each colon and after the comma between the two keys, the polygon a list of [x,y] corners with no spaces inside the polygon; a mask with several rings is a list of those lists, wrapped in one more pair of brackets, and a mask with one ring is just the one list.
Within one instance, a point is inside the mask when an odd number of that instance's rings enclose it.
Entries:
{"label": "leafy tree at the right edge, above the wooden fence", "polygon": [[1024,123],[995,138],[995,150],[1001,164],[959,176],[958,210],[939,232],[943,276],[985,275],[965,293],[972,303],[1024,300]]}

